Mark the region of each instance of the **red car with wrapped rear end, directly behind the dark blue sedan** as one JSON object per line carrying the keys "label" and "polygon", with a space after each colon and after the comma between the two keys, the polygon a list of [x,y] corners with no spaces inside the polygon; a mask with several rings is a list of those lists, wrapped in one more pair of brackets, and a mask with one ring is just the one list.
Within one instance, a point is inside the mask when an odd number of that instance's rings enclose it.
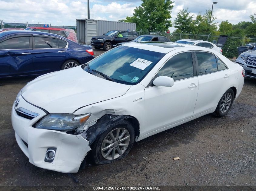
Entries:
{"label": "red car with wrapped rear end, directly behind the dark blue sedan", "polygon": [[63,29],[63,28],[52,28],[52,27],[27,27],[25,30],[35,30],[46,33],[58,34],[62,37],[65,37],[69,40],[72,40],[75,43],[78,43],[75,30],[73,29]]}

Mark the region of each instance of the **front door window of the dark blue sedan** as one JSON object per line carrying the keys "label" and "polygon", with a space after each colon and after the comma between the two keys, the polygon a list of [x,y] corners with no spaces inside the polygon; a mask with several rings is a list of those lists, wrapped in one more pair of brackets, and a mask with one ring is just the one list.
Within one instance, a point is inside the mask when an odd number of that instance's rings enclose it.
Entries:
{"label": "front door window of the dark blue sedan", "polygon": [[14,37],[0,43],[0,50],[4,49],[29,49],[30,37]]}

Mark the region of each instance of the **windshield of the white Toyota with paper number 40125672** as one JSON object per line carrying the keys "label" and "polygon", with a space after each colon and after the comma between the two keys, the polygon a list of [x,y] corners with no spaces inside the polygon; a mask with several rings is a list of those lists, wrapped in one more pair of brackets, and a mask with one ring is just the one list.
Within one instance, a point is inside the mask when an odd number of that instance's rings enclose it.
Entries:
{"label": "windshield of the white Toyota with paper number 40125672", "polygon": [[84,70],[97,70],[115,82],[134,85],[140,82],[163,56],[164,53],[118,46],[93,59],[88,63],[89,68],[85,65]]}

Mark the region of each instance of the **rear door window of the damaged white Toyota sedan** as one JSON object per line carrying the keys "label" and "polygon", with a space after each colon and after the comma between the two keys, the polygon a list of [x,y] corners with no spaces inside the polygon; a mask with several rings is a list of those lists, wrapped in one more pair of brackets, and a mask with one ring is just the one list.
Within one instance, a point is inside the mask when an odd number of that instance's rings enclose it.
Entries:
{"label": "rear door window of the damaged white Toyota sedan", "polygon": [[196,52],[198,60],[199,75],[209,74],[211,72],[217,72],[217,62],[215,56],[211,53]]}

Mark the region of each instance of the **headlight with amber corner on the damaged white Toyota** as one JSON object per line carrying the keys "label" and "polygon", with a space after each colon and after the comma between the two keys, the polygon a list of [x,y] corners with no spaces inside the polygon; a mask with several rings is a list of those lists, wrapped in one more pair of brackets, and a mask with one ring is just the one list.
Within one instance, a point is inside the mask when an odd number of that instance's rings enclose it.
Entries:
{"label": "headlight with amber corner on the damaged white Toyota", "polygon": [[84,126],[85,122],[89,119],[91,113],[82,115],[73,114],[48,114],[43,117],[41,121],[35,124],[38,129],[51,129],[57,131],[70,131]]}

